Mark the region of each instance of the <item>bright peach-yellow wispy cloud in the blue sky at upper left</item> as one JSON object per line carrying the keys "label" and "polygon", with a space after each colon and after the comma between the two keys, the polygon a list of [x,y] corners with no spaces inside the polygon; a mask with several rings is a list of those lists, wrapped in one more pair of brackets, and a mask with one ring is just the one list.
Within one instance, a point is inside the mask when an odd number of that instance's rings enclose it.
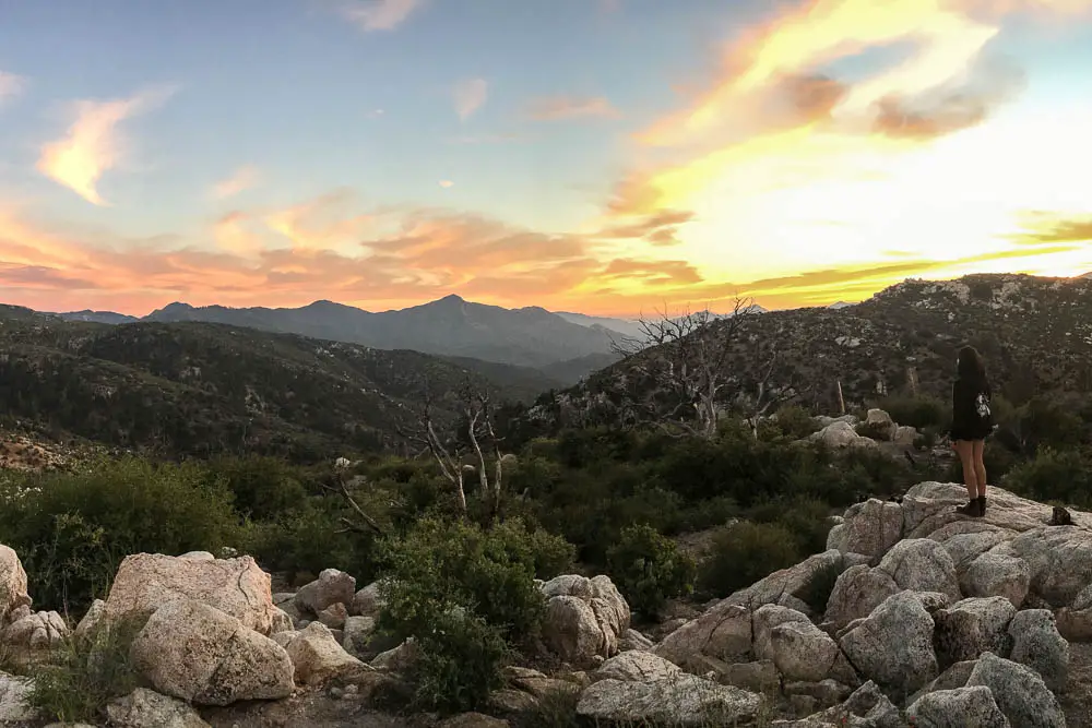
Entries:
{"label": "bright peach-yellow wispy cloud in the blue sky at upper left", "polygon": [[174,88],[164,87],[123,99],[78,102],[75,121],[68,133],[41,147],[38,171],[92,204],[108,205],[96,184],[126,154],[118,124],[159,106],[173,93]]}

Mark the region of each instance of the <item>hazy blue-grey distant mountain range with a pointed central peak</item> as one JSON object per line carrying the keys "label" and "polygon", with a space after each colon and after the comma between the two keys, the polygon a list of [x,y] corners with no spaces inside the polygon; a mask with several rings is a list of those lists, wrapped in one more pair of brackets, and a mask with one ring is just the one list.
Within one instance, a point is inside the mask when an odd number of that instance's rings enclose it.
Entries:
{"label": "hazy blue-grey distant mountain range with a pointed central peak", "polygon": [[533,367],[560,377],[566,383],[617,360],[612,354],[613,342],[639,334],[639,324],[624,319],[553,313],[537,307],[506,309],[465,301],[459,296],[379,313],[316,301],[295,309],[198,308],[171,303],[143,318],[112,311],[57,315],[67,321],[115,325],[141,321],[223,323],[381,349],[411,349]]}

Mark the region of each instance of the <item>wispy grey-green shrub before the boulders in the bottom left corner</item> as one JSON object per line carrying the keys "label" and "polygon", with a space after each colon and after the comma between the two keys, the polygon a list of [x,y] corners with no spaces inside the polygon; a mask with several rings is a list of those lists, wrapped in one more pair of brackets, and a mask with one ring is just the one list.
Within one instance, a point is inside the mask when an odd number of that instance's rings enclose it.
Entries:
{"label": "wispy grey-green shrub before the boulders in the bottom left corner", "polygon": [[49,661],[32,666],[29,705],[46,720],[102,723],[107,704],[140,684],[130,657],[136,632],[136,625],[121,623],[66,639]]}

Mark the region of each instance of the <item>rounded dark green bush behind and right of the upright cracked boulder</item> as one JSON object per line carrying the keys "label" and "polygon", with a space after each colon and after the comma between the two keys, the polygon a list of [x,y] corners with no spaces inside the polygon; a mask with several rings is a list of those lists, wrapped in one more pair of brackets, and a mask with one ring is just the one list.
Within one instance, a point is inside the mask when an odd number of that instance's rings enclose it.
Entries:
{"label": "rounded dark green bush behind and right of the upright cracked boulder", "polygon": [[654,618],[667,599],[693,592],[697,566],[669,538],[655,528],[636,525],[607,551],[607,571],[630,607]]}

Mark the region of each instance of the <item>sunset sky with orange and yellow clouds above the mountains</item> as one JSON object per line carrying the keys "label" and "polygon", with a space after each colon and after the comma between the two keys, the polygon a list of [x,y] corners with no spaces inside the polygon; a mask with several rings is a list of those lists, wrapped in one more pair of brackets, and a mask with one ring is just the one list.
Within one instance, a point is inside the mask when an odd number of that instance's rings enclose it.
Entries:
{"label": "sunset sky with orange and yellow clouds above the mountains", "polygon": [[1092,271],[1092,0],[0,0],[0,301]]}

